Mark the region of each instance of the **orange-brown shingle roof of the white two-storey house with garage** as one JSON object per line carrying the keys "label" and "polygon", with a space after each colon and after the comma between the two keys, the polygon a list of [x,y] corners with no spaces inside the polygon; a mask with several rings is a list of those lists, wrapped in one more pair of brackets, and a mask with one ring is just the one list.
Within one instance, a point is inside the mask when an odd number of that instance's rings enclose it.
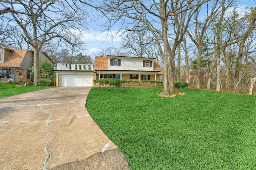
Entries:
{"label": "orange-brown shingle roof of the white two-storey house with garage", "polygon": [[[134,58],[138,58],[138,57],[134,57]],[[108,70],[108,57],[95,57],[94,70]],[[158,61],[155,59],[154,59],[154,71],[158,71],[158,74],[163,73]]]}

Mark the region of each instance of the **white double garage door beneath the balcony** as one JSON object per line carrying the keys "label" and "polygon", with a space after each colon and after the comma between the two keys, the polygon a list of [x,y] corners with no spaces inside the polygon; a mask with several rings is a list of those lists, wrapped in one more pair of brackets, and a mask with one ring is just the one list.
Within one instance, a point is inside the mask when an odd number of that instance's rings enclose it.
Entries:
{"label": "white double garage door beneath the balcony", "polygon": [[62,74],[60,85],[62,87],[92,86],[92,75]]}

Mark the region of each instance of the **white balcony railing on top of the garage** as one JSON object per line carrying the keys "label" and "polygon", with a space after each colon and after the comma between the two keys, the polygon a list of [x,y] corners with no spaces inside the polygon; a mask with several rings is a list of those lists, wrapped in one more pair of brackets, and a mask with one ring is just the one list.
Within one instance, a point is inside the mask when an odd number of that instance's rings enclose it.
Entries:
{"label": "white balcony railing on top of the garage", "polygon": [[57,63],[56,70],[76,70],[76,71],[93,71],[93,64],[64,64]]}

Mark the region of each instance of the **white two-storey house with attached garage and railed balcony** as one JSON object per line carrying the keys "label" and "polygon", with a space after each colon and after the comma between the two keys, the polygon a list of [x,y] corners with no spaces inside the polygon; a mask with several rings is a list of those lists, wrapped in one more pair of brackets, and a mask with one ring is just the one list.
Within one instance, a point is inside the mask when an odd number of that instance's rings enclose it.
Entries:
{"label": "white two-storey house with attached garage and railed balcony", "polygon": [[94,65],[57,64],[57,86],[93,86],[93,80],[136,80],[124,86],[155,86],[142,80],[160,81],[162,69],[154,58],[112,56],[95,57]]}

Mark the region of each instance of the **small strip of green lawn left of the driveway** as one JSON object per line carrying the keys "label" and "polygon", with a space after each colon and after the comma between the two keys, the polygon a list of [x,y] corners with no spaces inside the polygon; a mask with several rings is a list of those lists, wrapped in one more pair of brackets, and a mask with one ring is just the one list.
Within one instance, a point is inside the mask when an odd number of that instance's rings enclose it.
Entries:
{"label": "small strip of green lawn left of the driveway", "polygon": [[10,84],[10,83],[0,83],[0,87],[13,87],[13,88],[7,88],[7,89],[0,89],[0,98],[18,95],[22,93],[27,93],[30,91],[38,91],[42,89],[49,89],[52,88],[52,86],[22,86],[22,87],[16,87],[16,85],[19,84]]}

